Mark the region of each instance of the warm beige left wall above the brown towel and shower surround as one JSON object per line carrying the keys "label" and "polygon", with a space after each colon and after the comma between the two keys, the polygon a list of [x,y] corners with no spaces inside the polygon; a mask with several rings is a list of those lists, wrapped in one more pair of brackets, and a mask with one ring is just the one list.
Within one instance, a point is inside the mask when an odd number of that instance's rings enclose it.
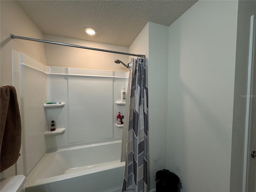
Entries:
{"label": "warm beige left wall above the brown towel and shower surround", "polygon": [[45,62],[44,44],[24,40],[12,40],[10,34],[42,39],[43,34],[20,8],[16,1],[0,1],[1,4],[1,86],[12,84],[11,49],[30,56],[42,64]]}

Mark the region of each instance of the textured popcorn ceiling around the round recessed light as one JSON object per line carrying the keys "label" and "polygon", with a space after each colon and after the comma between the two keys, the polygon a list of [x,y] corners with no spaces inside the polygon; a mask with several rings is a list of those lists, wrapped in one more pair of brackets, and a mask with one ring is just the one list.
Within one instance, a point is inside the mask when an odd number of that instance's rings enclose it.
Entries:
{"label": "textured popcorn ceiling around the round recessed light", "polygon": [[[193,0],[18,0],[47,35],[129,47],[150,21],[170,26]],[[95,36],[84,27],[97,30]]]}

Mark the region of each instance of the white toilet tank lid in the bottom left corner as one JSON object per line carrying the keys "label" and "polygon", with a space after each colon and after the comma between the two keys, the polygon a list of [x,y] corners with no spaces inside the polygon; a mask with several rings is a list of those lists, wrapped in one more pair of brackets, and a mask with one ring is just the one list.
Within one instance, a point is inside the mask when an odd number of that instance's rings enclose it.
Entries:
{"label": "white toilet tank lid in the bottom left corner", "polygon": [[20,192],[24,188],[26,177],[24,175],[16,175],[1,180],[1,192]]}

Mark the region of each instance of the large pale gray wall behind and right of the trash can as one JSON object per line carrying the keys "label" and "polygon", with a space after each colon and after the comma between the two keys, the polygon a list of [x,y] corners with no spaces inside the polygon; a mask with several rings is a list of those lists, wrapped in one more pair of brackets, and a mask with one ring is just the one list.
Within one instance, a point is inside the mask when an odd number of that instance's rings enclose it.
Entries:
{"label": "large pale gray wall behind and right of the trash can", "polygon": [[237,1],[199,1],[169,27],[167,168],[182,192],[230,190]]}

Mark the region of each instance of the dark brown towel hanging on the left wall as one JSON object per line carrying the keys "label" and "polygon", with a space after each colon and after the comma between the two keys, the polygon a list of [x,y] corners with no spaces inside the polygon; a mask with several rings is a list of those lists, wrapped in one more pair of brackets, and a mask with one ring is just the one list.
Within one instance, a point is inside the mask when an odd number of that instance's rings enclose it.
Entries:
{"label": "dark brown towel hanging on the left wall", "polygon": [[13,86],[1,89],[1,170],[15,164],[20,156],[21,121],[16,90]]}

